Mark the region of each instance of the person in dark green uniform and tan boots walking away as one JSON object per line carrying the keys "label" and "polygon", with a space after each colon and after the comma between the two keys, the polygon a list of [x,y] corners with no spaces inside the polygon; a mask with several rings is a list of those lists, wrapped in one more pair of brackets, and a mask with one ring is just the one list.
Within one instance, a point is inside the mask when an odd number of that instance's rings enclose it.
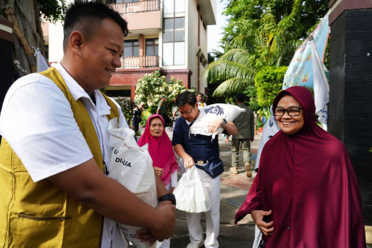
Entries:
{"label": "person in dark green uniform and tan boots walking away", "polygon": [[238,174],[238,152],[241,147],[243,152],[243,162],[244,169],[246,170],[247,177],[252,177],[251,172],[251,142],[254,141],[254,114],[253,110],[244,104],[246,100],[246,95],[239,93],[236,96],[236,102],[238,107],[246,109],[246,112],[240,113],[238,117],[233,121],[238,133],[232,135],[231,140],[231,168],[230,172],[233,174]]}

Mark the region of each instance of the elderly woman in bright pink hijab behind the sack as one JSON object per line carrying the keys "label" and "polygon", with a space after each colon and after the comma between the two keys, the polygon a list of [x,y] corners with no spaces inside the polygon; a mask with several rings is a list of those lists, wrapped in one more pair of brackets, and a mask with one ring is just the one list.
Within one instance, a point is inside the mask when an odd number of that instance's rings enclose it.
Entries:
{"label": "elderly woman in bright pink hijab behind the sack", "polygon": [[[160,115],[151,115],[146,122],[145,132],[138,145],[148,144],[148,152],[153,159],[153,167],[169,194],[165,197],[174,198],[173,190],[177,184],[177,159],[174,155],[172,143],[164,132],[164,120]],[[157,243],[157,248],[169,248],[170,239]]]}

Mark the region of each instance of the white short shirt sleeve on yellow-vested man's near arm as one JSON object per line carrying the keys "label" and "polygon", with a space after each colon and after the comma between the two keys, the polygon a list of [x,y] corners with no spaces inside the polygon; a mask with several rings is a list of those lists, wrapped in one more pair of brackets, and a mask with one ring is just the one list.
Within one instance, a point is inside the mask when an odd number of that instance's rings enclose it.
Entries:
{"label": "white short shirt sleeve on yellow-vested man's near arm", "polygon": [[40,74],[22,77],[9,89],[0,133],[34,182],[93,157],[70,103],[57,85]]}

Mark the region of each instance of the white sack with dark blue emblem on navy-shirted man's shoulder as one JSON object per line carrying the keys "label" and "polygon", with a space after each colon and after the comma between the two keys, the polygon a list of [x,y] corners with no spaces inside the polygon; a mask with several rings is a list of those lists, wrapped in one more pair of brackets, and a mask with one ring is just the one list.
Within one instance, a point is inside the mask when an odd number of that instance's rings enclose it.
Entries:
{"label": "white sack with dark blue emblem on navy-shirted man's shoulder", "polygon": [[196,118],[190,128],[190,133],[208,135],[212,136],[212,139],[214,139],[215,136],[222,133],[224,129],[219,128],[214,133],[207,133],[209,123],[216,119],[225,119],[232,122],[241,112],[246,111],[246,109],[231,104],[211,104],[200,110],[198,118]]}

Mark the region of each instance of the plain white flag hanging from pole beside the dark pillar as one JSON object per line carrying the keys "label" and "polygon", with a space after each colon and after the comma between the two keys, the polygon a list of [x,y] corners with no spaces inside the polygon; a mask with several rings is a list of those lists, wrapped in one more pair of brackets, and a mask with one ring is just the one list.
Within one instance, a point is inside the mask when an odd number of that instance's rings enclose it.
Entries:
{"label": "plain white flag hanging from pole beside the dark pillar", "polygon": [[[314,41],[310,41],[313,42]],[[325,82],[327,78],[324,73],[324,65],[318,59],[316,59],[314,45],[311,45],[311,61],[312,61],[312,73],[314,78],[314,100],[315,100],[315,113],[319,116],[318,120],[322,124],[322,127],[327,131],[327,120],[328,120],[328,109],[327,103],[329,102],[329,93],[327,84]]]}

